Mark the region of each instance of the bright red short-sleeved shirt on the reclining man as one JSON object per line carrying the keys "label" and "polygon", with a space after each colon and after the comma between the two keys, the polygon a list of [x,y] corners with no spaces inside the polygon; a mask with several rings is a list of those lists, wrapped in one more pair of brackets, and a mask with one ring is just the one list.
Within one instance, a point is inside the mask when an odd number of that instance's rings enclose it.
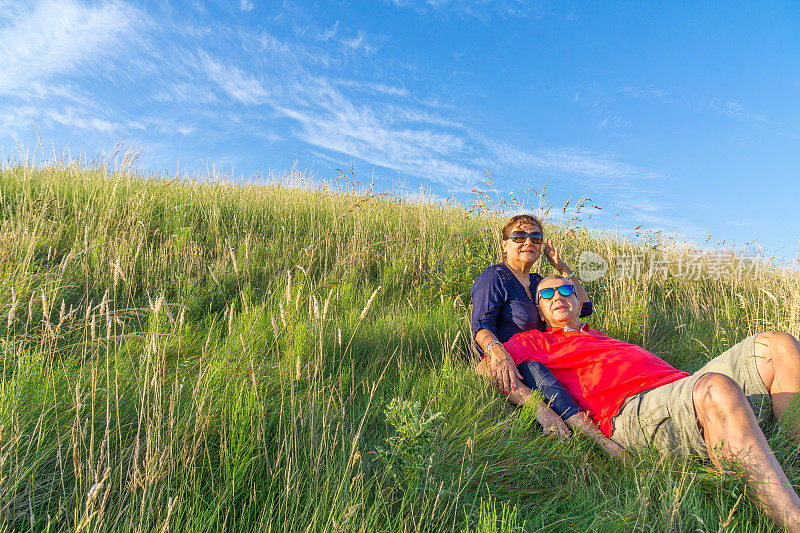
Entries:
{"label": "bright red short-sleeved shirt on the reclining man", "polygon": [[503,346],[516,364],[539,361],[550,369],[609,437],[613,431],[611,417],[626,398],[689,375],[641,346],[585,326],[580,331],[525,331]]}

